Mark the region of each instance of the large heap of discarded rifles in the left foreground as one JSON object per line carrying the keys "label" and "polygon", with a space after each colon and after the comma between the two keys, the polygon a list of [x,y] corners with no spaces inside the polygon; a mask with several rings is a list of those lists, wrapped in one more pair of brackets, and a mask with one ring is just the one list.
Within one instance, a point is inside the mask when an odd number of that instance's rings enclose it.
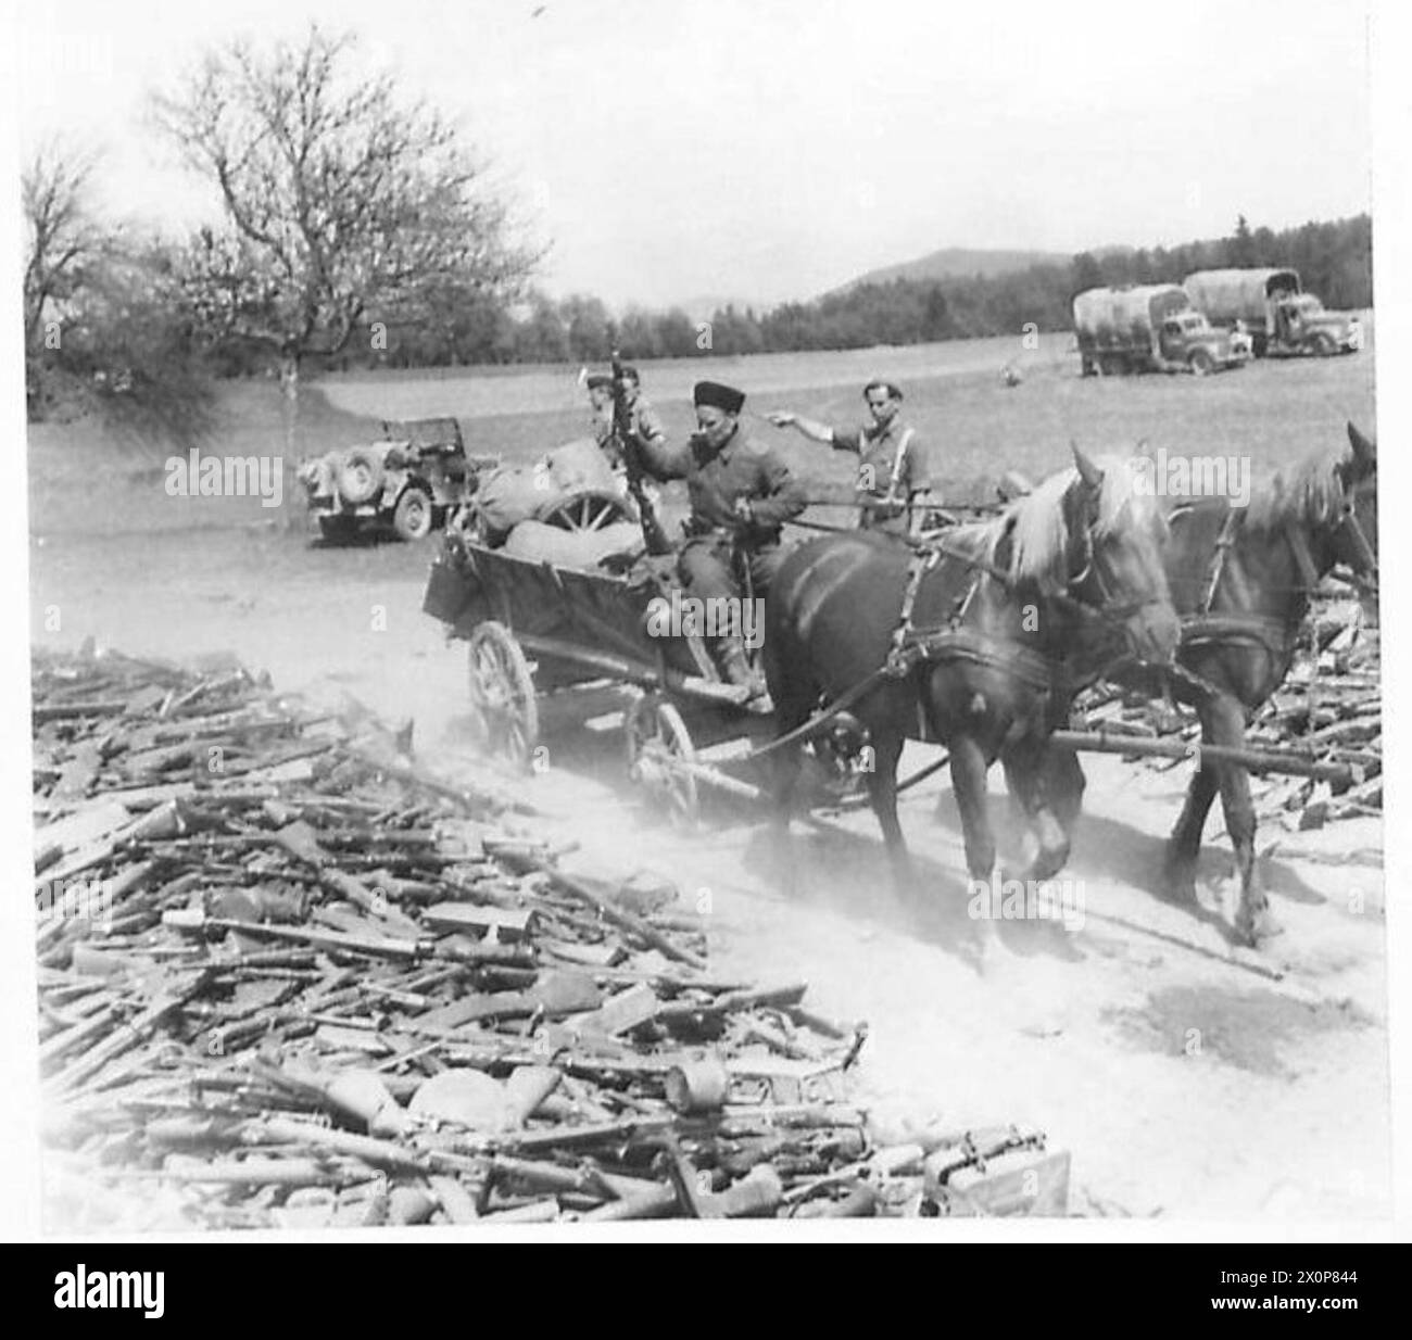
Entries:
{"label": "large heap of discarded rifles in the left foreground", "polygon": [[237,665],[34,666],[44,1176],[79,1231],[1065,1213],[1014,1127],[884,1134],[863,1027],[713,977],[407,740]]}

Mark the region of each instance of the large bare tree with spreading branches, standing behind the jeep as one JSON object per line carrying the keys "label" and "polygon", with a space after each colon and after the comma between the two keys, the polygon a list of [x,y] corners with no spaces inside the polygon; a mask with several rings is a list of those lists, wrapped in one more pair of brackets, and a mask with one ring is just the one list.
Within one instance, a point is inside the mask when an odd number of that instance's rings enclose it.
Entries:
{"label": "large bare tree with spreading branches, standing behind the jeep", "polygon": [[291,463],[306,359],[425,309],[438,285],[510,294],[539,260],[455,128],[401,100],[390,73],[357,69],[353,45],[316,25],[298,45],[234,42],[154,100],[223,205],[191,246],[195,309],[277,359]]}

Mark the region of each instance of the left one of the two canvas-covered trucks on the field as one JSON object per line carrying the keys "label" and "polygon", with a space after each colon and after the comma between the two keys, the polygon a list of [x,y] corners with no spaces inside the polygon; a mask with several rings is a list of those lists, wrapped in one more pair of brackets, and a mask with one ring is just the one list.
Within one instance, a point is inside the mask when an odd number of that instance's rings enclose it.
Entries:
{"label": "left one of the two canvas-covered trucks on the field", "polygon": [[1250,342],[1217,330],[1176,284],[1089,288],[1073,299],[1083,376],[1240,367]]}

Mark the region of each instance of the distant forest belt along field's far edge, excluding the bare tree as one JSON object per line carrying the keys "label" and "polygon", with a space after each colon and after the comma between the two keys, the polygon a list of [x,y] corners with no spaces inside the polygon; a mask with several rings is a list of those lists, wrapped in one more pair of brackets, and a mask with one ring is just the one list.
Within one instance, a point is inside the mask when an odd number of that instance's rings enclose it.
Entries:
{"label": "distant forest belt along field's far edge, excluding the bare tree", "polygon": [[1067,265],[1031,265],[988,278],[858,284],[810,302],[785,302],[758,312],[727,306],[710,318],[709,350],[702,323],[681,309],[630,309],[614,321],[602,301],[585,295],[555,301],[532,291],[514,308],[460,301],[428,313],[431,319],[385,332],[381,342],[352,342],[350,350],[357,345],[374,352],[350,352],[337,366],[602,363],[614,345],[633,359],[867,349],[1018,333],[1027,322],[1041,330],[1067,330],[1072,298],[1084,288],[1179,284],[1193,270],[1220,265],[1289,265],[1326,306],[1370,308],[1372,220],[1358,215],[1274,232],[1251,229],[1240,217],[1228,237],[1209,241],[1083,251]]}

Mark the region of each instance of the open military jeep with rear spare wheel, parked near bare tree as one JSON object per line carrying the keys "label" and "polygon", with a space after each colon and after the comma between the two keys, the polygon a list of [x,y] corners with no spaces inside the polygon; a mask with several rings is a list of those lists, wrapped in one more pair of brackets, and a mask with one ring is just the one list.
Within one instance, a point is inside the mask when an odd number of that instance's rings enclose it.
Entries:
{"label": "open military jeep with rear spare wheel, parked near bare tree", "polygon": [[380,441],[305,462],[299,480],[328,541],[352,539],[378,525],[391,525],[402,539],[421,539],[474,491],[477,469],[496,463],[467,462],[453,418],[384,421]]}

